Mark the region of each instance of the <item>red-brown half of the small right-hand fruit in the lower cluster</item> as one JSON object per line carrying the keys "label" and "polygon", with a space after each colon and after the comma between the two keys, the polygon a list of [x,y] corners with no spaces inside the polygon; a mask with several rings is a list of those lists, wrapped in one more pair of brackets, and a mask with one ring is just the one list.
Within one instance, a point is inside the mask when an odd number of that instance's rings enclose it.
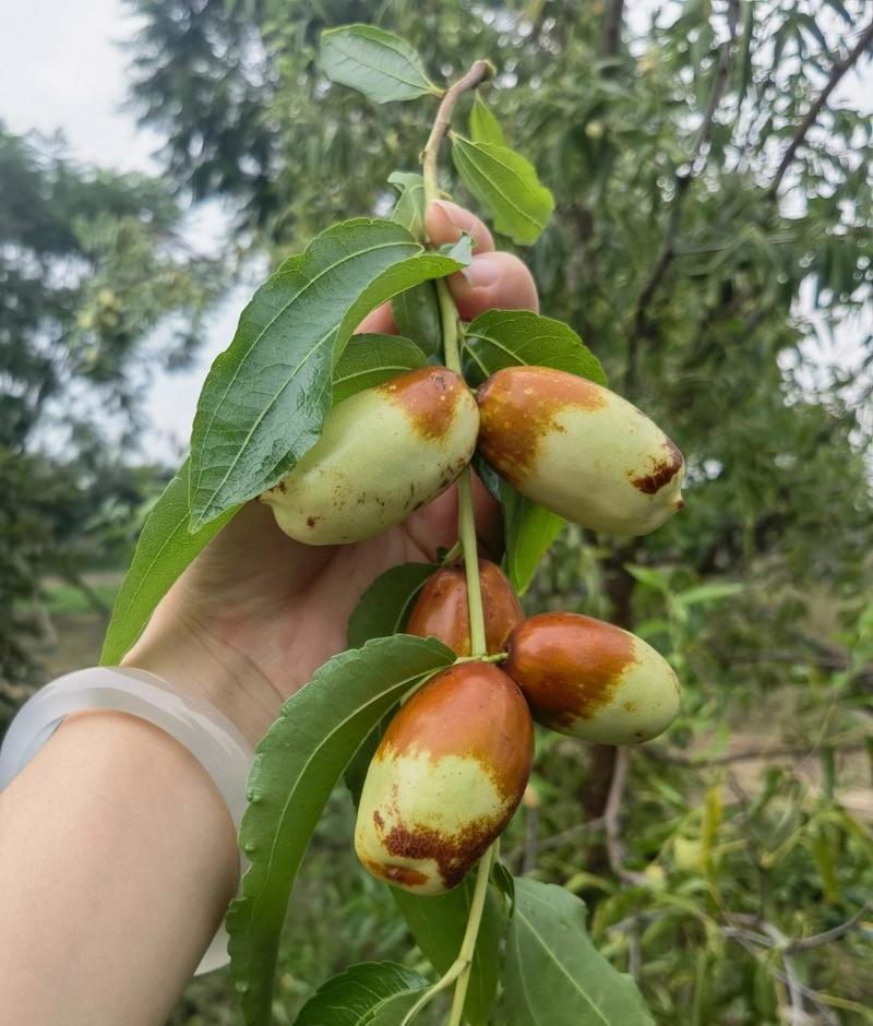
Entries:
{"label": "red-brown half of the small right-hand fruit in the lower cluster", "polygon": [[636,663],[626,631],[574,612],[530,617],[510,635],[506,672],[540,723],[572,729],[612,701],[627,667]]}

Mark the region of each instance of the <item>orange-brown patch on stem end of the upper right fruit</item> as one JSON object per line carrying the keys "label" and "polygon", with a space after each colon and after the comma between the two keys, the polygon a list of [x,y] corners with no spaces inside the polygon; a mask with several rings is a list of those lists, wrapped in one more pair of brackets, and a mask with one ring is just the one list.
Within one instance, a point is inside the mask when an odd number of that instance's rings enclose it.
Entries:
{"label": "orange-brown patch on stem end of the upper right fruit", "polygon": [[591,413],[606,405],[603,389],[546,367],[505,367],[476,394],[479,450],[503,477],[519,485],[534,465],[543,438],[563,432],[558,415],[567,408]]}

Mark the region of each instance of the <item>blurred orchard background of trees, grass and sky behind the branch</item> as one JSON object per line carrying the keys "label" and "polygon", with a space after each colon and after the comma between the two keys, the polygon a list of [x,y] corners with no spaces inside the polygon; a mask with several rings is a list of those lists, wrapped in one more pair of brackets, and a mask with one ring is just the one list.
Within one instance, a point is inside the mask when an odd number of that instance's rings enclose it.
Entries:
{"label": "blurred orchard background of trees, grass and sky behind the branch", "polygon": [[[96,661],[253,288],[417,166],[427,105],[330,85],[320,31],[380,24],[449,79],[487,57],[488,102],[555,194],[521,253],[542,311],[690,478],[651,537],[567,529],[526,596],[643,635],[685,697],[630,753],[541,736],[507,861],[586,899],[658,1023],[873,1022],[873,3],[0,11],[0,731]],[[351,824],[337,794],[277,1023],[349,962],[420,963]],[[171,1022],[239,1022],[227,974]]]}

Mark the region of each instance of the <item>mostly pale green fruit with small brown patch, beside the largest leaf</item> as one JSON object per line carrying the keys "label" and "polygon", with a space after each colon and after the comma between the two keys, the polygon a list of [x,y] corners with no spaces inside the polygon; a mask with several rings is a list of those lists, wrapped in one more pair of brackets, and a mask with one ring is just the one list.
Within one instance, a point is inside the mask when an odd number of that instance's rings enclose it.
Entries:
{"label": "mostly pale green fruit with small brown patch, beside the largest leaf", "polygon": [[422,367],[358,392],[262,502],[308,545],[361,541],[435,499],[469,463],[479,414],[463,378]]}

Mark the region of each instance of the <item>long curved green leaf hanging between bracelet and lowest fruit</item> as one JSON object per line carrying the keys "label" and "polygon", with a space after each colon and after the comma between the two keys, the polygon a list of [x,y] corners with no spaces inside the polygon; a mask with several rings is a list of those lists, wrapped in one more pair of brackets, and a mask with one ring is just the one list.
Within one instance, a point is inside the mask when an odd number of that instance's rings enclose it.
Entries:
{"label": "long curved green leaf hanging between bracelet and lowest fruit", "polygon": [[337,779],[382,716],[454,663],[433,639],[381,637],[343,652],[283,705],[258,745],[239,843],[251,860],[227,914],[230,971],[249,1026],[266,1026],[288,897]]}

